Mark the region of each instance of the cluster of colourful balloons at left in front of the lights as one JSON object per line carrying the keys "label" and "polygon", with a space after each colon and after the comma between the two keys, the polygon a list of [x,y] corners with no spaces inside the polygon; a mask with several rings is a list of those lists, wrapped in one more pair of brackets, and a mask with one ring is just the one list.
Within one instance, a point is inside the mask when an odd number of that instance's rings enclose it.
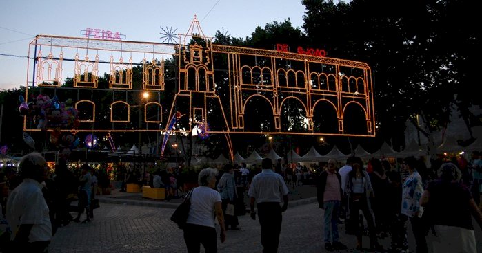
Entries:
{"label": "cluster of colourful balloons at left in front of the lights", "polygon": [[50,98],[40,94],[28,103],[23,96],[19,96],[19,100],[20,115],[32,117],[37,129],[77,129],[80,124],[79,112],[71,98],[59,102],[57,96]]}

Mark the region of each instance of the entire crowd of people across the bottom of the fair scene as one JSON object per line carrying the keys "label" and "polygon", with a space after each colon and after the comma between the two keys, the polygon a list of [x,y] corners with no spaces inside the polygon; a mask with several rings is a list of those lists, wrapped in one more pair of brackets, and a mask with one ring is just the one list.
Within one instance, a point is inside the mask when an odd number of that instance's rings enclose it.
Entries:
{"label": "entire crowd of people across the bottom of the fair scene", "polygon": [[[199,172],[198,187],[190,191],[191,209],[183,234],[188,252],[217,252],[215,219],[221,228],[239,230],[237,216],[250,212],[259,219],[263,252],[277,252],[282,213],[288,208],[288,194],[303,180],[317,187],[317,202],[323,209],[323,241],[328,251],[345,250],[339,225],[353,235],[357,250],[383,251],[379,238],[390,236],[391,252],[408,252],[408,222],[416,252],[428,252],[426,237],[434,235],[434,252],[476,252],[474,224],[482,228],[479,208],[482,194],[481,153],[472,161],[454,157],[432,163],[429,170],[421,160],[405,157],[401,170],[388,161],[372,158],[366,164],[350,157],[339,168],[335,159],[321,168],[285,164],[279,159],[263,159],[261,167],[245,163],[226,164],[222,170],[205,168]],[[179,197],[181,168],[155,170],[142,177],[137,170],[125,170],[123,186],[132,182],[165,188],[165,199]],[[81,166],[80,175],[60,160],[52,172],[39,153],[22,157],[19,168],[6,167],[0,173],[2,224],[0,250],[44,252],[57,228],[70,221],[88,223],[94,217],[92,199],[97,192],[96,172]],[[185,195],[187,190],[183,192]],[[72,196],[77,197],[77,217],[72,217]],[[250,199],[249,210],[244,203]],[[256,209],[255,209],[256,208]],[[82,214],[86,219],[81,221]],[[214,215],[213,215],[214,214]],[[1,225],[1,224],[0,224]],[[3,227],[2,227],[3,228]],[[199,236],[199,235],[202,236]],[[370,248],[363,248],[363,236]],[[22,251],[23,252],[23,251]]]}

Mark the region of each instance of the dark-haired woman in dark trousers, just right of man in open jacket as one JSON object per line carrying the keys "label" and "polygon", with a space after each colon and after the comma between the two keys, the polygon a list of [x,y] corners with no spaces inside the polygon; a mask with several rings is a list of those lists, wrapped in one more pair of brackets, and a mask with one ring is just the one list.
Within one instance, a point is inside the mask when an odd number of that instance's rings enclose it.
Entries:
{"label": "dark-haired woman in dark trousers, just right of man in open jacket", "polygon": [[348,197],[347,226],[352,228],[355,236],[357,236],[357,250],[363,250],[363,228],[359,226],[359,223],[361,223],[359,210],[361,210],[370,230],[370,250],[381,250],[382,247],[376,239],[374,214],[370,205],[370,195],[374,198],[372,183],[368,173],[363,170],[361,158],[354,157],[352,162],[353,170],[348,173],[345,181],[345,195]]}

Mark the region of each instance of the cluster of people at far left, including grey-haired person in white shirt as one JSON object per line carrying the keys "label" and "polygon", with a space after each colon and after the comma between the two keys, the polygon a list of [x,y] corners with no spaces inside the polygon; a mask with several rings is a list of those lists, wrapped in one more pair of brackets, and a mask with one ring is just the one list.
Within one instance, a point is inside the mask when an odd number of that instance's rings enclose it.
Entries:
{"label": "cluster of people at far left, including grey-haired person in white shirt", "polygon": [[[47,252],[57,228],[70,221],[82,223],[94,217],[97,173],[88,164],[81,175],[60,159],[52,170],[40,153],[21,158],[19,167],[7,166],[0,173],[1,252]],[[72,201],[77,200],[77,206]],[[71,212],[77,212],[77,218]]]}

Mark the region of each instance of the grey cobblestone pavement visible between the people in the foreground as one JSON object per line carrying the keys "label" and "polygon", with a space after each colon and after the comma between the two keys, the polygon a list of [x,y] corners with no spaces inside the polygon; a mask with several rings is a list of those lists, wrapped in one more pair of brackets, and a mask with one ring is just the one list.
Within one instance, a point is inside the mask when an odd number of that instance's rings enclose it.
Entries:
{"label": "grey cobblestone pavement visible between the people in the foreground", "polygon": [[[91,223],[70,223],[59,228],[50,243],[50,253],[119,252],[119,253],[159,253],[185,252],[182,230],[170,221],[170,215],[177,203],[171,206],[146,206],[152,201],[106,203],[101,199],[101,207],[94,211]],[[323,244],[323,211],[318,208],[316,199],[291,201],[283,213],[283,225],[279,252],[325,252]],[[85,218],[83,214],[82,218]],[[249,214],[239,217],[241,230],[227,231],[225,243],[218,240],[219,252],[261,252],[261,227],[259,221],[250,219]],[[409,225],[409,223],[408,223]],[[219,227],[217,227],[219,230]],[[345,234],[340,225],[340,240],[348,250],[354,250],[354,236]],[[410,252],[414,250],[414,239],[409,231]],[[218,233],[219,234],[219,233]],[[482,252],[482,232],[476,228],[479,252]],[[428,237],[430,244],[430,236]],[[390,239],[381,244],[388,248]],[[368,237],[363,237],[368,247]],[[203,252],[201,247],[201,252]]]}

